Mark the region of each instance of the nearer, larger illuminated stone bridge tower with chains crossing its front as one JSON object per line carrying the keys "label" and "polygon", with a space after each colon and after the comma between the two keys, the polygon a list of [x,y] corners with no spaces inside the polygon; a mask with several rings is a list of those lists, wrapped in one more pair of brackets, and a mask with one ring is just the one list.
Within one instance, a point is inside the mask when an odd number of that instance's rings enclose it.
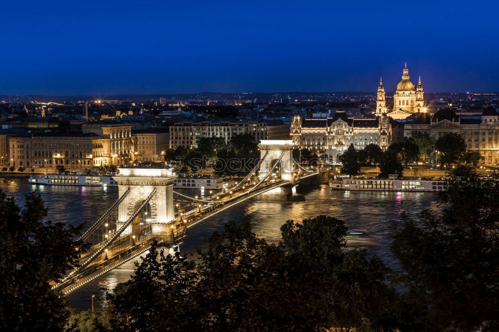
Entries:
{"label": "nearer, larger illuminated stone bridge tower with chains crossing its front", "polygon": [[[152,234],[169,236],[170,223],[175,220],[173,202],[173,182],[177,175],[163,167],[120,167],[119,175],[113,176],[118,182],[119,197],[130,189],[118,207],[118,227],[128,220],[146,198],[156,189],[140,216],[151,223]],[[132,227],[133,228],[133,227]],[[134,230],[131,229],[131,234]]]}

